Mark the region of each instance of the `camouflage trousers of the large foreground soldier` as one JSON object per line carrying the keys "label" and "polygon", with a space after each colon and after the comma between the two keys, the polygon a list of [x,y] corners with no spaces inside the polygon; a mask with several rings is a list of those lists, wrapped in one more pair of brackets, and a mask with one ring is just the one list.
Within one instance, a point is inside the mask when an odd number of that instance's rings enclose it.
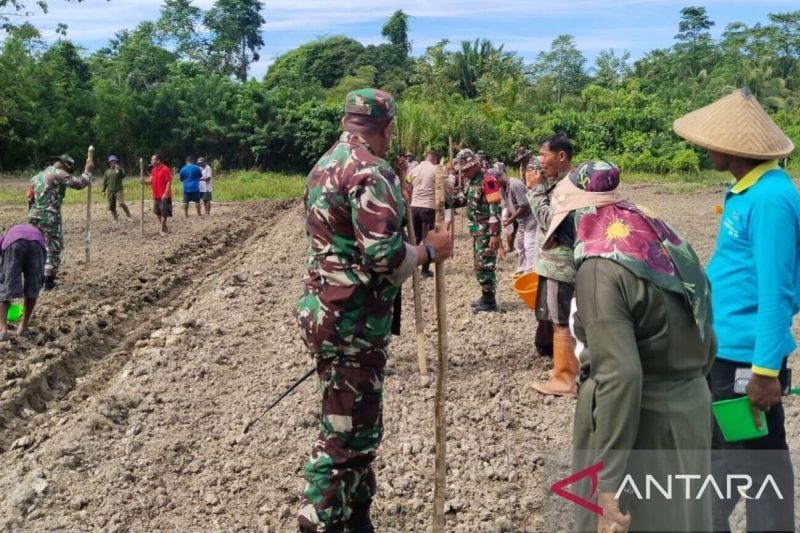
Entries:
{"label": "camouflage trousers of the large foreground soldier", "polygon": [[304,474],[298,525],[345,531],[353,509],[369,506],[377,486],[371,463],[383,436],[385,350],[315,357],[322,393],[320,433]]}

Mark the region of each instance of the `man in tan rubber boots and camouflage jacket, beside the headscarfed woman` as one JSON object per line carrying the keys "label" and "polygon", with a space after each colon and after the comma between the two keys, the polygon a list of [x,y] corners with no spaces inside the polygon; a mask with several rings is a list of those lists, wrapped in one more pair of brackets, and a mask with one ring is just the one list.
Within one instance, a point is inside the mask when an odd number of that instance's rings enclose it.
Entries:
{"label": "man in tan rubber boots and camouflage jacket, beside the headscarfed woman", "polygon": [[534,268],[539,275],[536,344],[546,346],[546,340],[540,336],[552,331],[553,372],[547,383],[534,383],[533,388],[542,394],[574,395],[579,369],[569,330],[570,309],[575,295],[573,243],[558,242],[555,238],[545,241],[552,219],[550,200],[553,189],[572,170],[572,143],[564,135],[553,135],[542,143],[539,156],[541,171],[532,180],[533,187],[528,193],[531,210],[539,225],[539,256]]}

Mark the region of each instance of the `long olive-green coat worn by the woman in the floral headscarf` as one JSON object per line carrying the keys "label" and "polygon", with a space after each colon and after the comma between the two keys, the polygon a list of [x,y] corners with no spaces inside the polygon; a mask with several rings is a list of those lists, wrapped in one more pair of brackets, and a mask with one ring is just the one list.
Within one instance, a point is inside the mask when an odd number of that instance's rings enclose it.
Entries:
{"label": "long olive-green coat worn by the woman in the floral headscarf", "polygon": [[[710,321],[701,338],[679,294],[610,259],[581,264],[576,298],[575,335],[586,345],[581,363],[589,377],[575,408],[573,471],[602,461],[601,492],[616,492],[628,474],[637,480],[708,474],[711,396],[705,374],[716,353]],[[589,499],[590,493],[588,483],[577,487],[579,496]],[[708,499],[632,500],[628,508],[630,531],[711,529]],[[574,531],[597,530],[596,515],[581,509],[577,520]]]}

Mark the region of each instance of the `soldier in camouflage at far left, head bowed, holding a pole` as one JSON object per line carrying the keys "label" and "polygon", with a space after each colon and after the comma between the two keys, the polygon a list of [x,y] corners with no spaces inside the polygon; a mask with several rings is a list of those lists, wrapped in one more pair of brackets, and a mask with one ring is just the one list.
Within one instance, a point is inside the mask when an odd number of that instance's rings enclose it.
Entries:
{"label": "soldier in camouflage at far left, head bowed, holding a pole", "polygon": [[44,235],[47,262],[44,269],[44,288],[55,287],[61,252],[64,249],[64,232],[61,224],[61,204],[67,187],[88,187],[94,176],[94,162],[87,161],[83,174],[72,176],[75,161],[68,155],[60,156],[51,166],[31,178],[28,186],[28,223]]}

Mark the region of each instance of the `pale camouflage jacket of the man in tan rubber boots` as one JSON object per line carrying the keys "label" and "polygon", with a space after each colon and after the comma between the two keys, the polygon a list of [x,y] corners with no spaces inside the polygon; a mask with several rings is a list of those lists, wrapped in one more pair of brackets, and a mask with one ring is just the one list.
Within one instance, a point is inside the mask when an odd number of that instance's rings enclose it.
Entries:
{"label": "pale camouflage jacket of the man in tan rubber boots", "polygon": [[[565,174],[566,175],[566,174]],[[563,176],[562,176],[563,177]],[[575,283],[575,259],[572,246],[550,243],[545,247],[544,238],[550,228],[552,211],[550,209],[550,196],[558,180],[545,185],[537,185],[528,191],[528,200],[531,204],[533,216],[536,218],[536,246],[539,256],[536,260],[534,271],[542,277]]]}

